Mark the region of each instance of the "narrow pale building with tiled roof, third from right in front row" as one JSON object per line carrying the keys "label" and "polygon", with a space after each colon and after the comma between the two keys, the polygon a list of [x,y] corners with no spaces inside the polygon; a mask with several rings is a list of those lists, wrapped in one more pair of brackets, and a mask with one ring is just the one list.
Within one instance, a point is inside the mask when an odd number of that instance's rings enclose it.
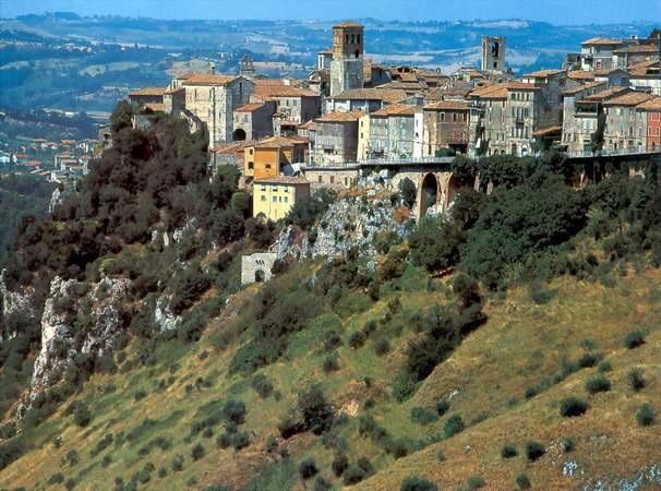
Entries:
{"label": "narrow pale building with tiled roof, third from right in front row", "polygon": [[606,88],[604,82],[588,82],[563,92],[563,125],[562,144],[570,154],[586,154],[592,152],[592,134],[597,131],[598,111],[588,110],[592,105],[581,105],[577,101],[592,96]]}

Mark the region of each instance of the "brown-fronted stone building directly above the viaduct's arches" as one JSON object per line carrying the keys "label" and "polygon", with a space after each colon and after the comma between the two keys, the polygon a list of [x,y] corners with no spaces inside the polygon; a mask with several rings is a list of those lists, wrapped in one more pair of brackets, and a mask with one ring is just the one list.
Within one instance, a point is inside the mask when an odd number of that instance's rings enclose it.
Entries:
{"label": "brown-fronted stone building directly above the viaduct's arches", "polygon": [[465,100],[438,100],[424,106],[423,156],[434,157],[443,148],[468,151],[470,108]]}

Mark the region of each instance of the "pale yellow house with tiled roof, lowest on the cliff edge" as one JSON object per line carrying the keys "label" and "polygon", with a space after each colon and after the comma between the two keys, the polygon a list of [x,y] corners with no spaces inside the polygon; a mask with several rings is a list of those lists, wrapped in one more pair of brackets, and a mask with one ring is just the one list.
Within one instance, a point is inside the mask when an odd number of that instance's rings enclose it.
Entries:
{"label": "pale yellow house with tiled roof, lowest on the cliff edge", "polygon": [[252,187],[253,216],[271,220],[285,218],[296,203],[310,197],[310,182],[301,178],[276,176],[260,179]]}

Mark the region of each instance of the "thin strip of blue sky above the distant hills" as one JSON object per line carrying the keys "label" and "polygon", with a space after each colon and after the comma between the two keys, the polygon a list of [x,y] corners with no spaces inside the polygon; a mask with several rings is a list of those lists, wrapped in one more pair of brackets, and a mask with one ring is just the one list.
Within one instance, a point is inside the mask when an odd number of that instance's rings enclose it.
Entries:
{"label": "thin strip of blue sky above the distant hills", "polygon": [[0,16],[70,11],[157,19],[659,21],[661,0],[0,0]]}

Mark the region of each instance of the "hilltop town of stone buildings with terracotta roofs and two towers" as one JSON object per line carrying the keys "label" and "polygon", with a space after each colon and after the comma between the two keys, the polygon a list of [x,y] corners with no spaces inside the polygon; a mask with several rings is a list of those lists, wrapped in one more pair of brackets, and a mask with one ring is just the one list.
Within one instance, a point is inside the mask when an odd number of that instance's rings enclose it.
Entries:
{"label": "hilltop town of stone buildings with terracotta roofs and two towers", "polygon": [[[364,56],[369,35],[360,24],[335,25],[332,49],[319,53],[308,80],[260,75],[244,57],[237,75],[217,74],[209,63],[206,73],[181,73],[167,87],[136,89],[129,94],[142,108],[134,124],[164,111],[185,119],[191,131],[205,128],[209,166],[237,166],[253,190],[347,189],[365,167],[433,168],[460,154],[661,151],[659,29],[647,38],[586,39],[563,67],[521,76],[508,69],[502,37],[482,38],[480,67],[444,74],[373,62]],[[271,219],[295,204],[260,192],[254,200],[255,213]]]}

